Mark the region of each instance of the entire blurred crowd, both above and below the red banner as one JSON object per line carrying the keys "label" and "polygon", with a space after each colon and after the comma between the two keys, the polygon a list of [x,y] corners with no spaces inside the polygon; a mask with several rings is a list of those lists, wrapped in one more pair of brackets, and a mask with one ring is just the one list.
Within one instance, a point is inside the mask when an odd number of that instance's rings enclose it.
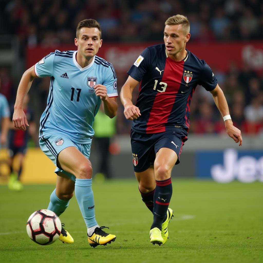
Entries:
{"label": "entire blurred crowd, both above and below the red banner", "polygon": [[[79,21],[97,19],[103,41],[140,42],[163,38],[165,20],[184,14],[190,21],[191,42],[251,41],[263,39],[263,1],[260,0],[9,0],[0,3],[0,33],[16,34],[21,58],[26,47],[71,44]],[[215,63],[216,64],[216,63]],[[231,62],[226,72],[210,65],[224,91],[234,124],[247,134],[263,135],[263,77],[248,65]],[[119,77],[119,76],[118,76]],[[118,81],[118,89],[123,81]],[[0,92],[14,102],[17,87],[10,72],[0,69]],[[17,83],[15,83],[17,84]],[[31,105],[40,116],[49,90],[47,78],[34,81]],[[44,98],[44,99],[43,99]],[[136,94],[134,93],[136,100]],[[130,121],[119,101],[117,133],[128,134]],[[213,97],[197,87],[191,102],[190,132],[225,133],[224,122]]]}

